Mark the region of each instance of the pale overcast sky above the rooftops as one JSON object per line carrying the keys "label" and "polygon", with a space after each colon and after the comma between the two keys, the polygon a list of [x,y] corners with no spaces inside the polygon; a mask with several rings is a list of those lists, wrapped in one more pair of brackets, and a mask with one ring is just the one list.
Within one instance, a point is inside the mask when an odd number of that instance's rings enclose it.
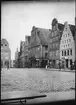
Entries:
{"label": "pale overcast sky above the rooftops", "polygon": [[20,49],[20,41],[31,35],[33,26],[51,29],[51,23],[57,18],[59,23],[75,24],[74,2],[2,2],[1,38],[5,38],[11,49],[11,59]]}

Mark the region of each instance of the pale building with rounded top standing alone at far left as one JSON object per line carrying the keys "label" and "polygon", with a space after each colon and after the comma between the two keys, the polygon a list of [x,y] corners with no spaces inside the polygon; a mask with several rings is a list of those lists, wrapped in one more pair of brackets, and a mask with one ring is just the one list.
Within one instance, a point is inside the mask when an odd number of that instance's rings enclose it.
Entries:
{"label": "pale building with rounded top standing alone at far left", "polygon": [[9,43],[6,39],[1,40],[1,67],[10,68],[11,65],[11,51],[9,48]]}

